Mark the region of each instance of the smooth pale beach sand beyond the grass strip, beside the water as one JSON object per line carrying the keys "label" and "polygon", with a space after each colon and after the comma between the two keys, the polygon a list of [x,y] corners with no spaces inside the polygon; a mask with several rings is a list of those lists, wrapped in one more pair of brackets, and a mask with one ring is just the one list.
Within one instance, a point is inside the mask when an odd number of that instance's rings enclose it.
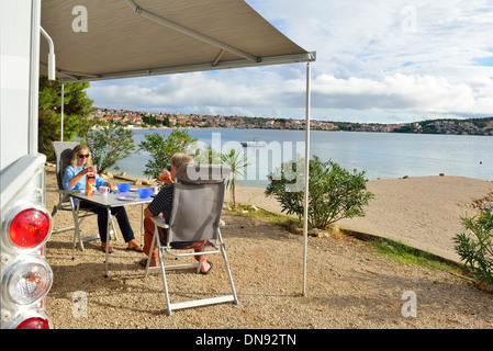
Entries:
{"label": "smooth pale beach sand beyond the grass strip, beside the water", "polygon": [[[461,217],[479,213],[471,203],[493,194],[493,182],[463,177],[419,177],[368,182],[374,194],[365,217],[343,219],[339,226],[399,240],[449,260],[459,261],[452,238],[463,231]],[[238,188],[237,202],[269,212],[281,206],[264,189]],[[229,197],[226,197],[229,199]]]}

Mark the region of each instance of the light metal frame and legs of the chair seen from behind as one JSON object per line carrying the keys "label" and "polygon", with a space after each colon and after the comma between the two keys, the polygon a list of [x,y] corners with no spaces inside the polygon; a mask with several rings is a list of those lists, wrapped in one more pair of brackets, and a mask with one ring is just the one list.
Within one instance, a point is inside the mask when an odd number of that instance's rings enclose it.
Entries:
{"label": "light metal frame and legs of the chair seen from behind", "polygon": [[[179,180],[177,180],[177,182],[179,182]],[[224,186],[224,181],[222,183],[222,186]],[[224,192],[223,192],[223,195],[224,195]],[[222,206],[222,203],[223,203],[223,201],[221,200],[221,206]],[[175,204],[173,204],[173,206],[175,206]],[[216,238],[208,240],[208,242],[203,246],[203,248],[210,248],[210,249],[203,250],[202,252],[181,252],[181,253],[178,253],[178,252],[184,251],[184,250],[190,250],[190,249],[180,249],[180,248],[172,247],[171,246],[172,238],[169,238],[169,237],[168,237],[169,242],[161,242],[160,236],[159,236],[159,228],[164,228],[164,229],[169,228],[169,226],[163,220],[163,218],[159,216],[153,216],[153,217],[150,217],[150,220],[155,224],[155,230],[154,230],[153,241],[150,245],[149,254],[147,258],[145,278],[148,276],[149,271],[154,271],[154,270],[161,271],[166,304],[168,307],[168,316],[171,316],[172,310],[176,310],[176,309],[192,308],[192,307],[198,307],[198,306],[206,306],[206,305],[222,304],[222,303],[228,303],[228,302],[233,302],[235,305],[238,305],[239,302],[238,302],[236,288],[235,288],[235,285],[233,282],[233,276],[232,276],[231,269],[229,269],[229,262],[227,260],[225,244],[224,244],[222,235],[221,235],[221,229],[219,228],[222,225],[224,225],[223,220],[220,222],[220,226],[217,227]],[[152,254],[153,254],[153,251],[155,248],[157,248],[157,251],[158,251],[159,265],[158,267],[149,267],[150,260],[152,260]],[[167,253],[171,257],[175,257],[175,258],[200,256],[200,260],[197,263],[182,263],[182,264],[165,265],[165,253]],[[217,297],[212,297],[212,298],[202,298],[202,299],[192,299],[192,301],[186,301],[186,302],[180,302],[180,303],[171,303],[170,297],[169,297],[168,283],[166,280],[166,271],[194,268],[194,269],[197,269],[197,273],[199,273],[201,264],[204,260],[204,256],[215,254],[215,253],[221,253],[223,257],[224,264],[226,268],[226,273],[227,273],[228,280],[229,280],[232,293],[228,295],[223,295],[223,296],[217,296]]]}

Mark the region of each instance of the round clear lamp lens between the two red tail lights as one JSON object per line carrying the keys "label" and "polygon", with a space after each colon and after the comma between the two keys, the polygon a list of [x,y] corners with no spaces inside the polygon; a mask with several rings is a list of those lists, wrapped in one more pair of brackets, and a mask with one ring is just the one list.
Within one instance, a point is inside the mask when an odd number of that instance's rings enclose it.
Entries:
{"label": "round clear lamp lens between the two red tail lights", "polygon": [[53,271],[44,259],[30,258],[12,263],[2,280],[2,295],[19,305],[31,305],[46,296]]}

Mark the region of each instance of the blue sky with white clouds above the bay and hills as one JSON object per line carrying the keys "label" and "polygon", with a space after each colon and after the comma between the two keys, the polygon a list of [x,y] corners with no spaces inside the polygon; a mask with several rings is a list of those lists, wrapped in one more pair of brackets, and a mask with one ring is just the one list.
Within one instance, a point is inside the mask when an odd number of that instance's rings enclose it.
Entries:
{"label": "blue sky with white clouds above the bay and hills", "polygon": [[[247,0],[306,50],[312,117],[493,115],[493,1]],[[94,106],[304,117],[305,64],[92,82]],[[290,99],[285,99],[290,97]]]}

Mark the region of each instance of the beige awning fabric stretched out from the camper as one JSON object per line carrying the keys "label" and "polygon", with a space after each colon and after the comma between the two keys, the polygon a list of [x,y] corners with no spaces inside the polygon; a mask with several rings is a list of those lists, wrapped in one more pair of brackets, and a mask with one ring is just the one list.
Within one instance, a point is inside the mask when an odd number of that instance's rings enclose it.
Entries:
{"label": "beige awning fabric stretched out from the camper", "polygon": [[[66,82],[315,60],[244,0],[43,0],[41,15]],[[41,37],[43,73],[47,57]]]}

